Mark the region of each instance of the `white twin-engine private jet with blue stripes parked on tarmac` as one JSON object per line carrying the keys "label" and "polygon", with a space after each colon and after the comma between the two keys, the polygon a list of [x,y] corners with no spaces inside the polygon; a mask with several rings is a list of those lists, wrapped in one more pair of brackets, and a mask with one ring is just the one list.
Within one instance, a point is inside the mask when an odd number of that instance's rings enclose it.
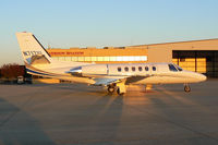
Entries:
{"label": "white twin-engine private jet with blue stripes parked on tarmac", "polygon": [[27,73],[45,77],[107,86],[109,93],[126,92],[125,85],[187,84],[206,81],[206,76],[185,71],[173,63],[95,64],[53,60],[32,33],[16,33]]}

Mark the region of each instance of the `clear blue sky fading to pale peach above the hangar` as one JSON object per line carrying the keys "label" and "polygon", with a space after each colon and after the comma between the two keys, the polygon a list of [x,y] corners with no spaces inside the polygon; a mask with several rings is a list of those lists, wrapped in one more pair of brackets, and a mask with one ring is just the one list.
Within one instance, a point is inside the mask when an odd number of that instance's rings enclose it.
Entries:
{"label": "clear blue sky fading to pale peach above the hangar", "polygon": [[45,48],[218,38],[217,0],[0,0],[0,65],[23,64],[16,32]]}

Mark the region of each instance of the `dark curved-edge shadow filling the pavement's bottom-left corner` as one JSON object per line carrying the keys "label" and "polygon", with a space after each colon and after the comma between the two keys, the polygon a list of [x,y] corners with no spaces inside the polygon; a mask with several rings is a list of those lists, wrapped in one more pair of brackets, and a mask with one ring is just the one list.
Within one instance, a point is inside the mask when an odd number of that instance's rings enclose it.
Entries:
{"label": "dark curved-edge shadow filling the pavement's bottom-left corner", "polygon": [[5,99],[0,99],[0,144],[39,143],[55,145],[35,118]]}

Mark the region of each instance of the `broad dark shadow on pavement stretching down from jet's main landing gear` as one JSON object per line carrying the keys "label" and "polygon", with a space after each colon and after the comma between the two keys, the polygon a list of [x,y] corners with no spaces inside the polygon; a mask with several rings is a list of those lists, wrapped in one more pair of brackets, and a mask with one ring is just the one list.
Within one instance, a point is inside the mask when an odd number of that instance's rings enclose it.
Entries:
{"label": "broad dark shadow on pavement stretching down from jet's main landing gear", "polygon": [[114,144],[121,123],[123,98],[121,96],[105,95],[83,111],[88,112],[89,122],[86,124],[88,125],[87,138],[81,141],[81,143]]}

